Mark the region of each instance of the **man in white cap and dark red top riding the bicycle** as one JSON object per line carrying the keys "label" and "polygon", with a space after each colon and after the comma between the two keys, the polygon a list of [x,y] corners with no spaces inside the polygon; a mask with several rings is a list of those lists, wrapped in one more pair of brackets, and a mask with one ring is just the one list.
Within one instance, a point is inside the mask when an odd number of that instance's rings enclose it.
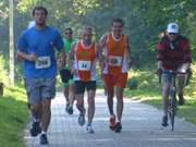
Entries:
{"label": "man in white cap and dark red top riding the bicycle", "polygon": [[171,74],[162,71],[176,71],[176,90],[179,105],[184,105],[183,88],[186,72],[192,63],[192,54],[188,40],[179,34],[179,25],[170,23],[166,36],[157,45],[157,74],[161,76],[163,117],[162,126],[168,125],[169,90]]}

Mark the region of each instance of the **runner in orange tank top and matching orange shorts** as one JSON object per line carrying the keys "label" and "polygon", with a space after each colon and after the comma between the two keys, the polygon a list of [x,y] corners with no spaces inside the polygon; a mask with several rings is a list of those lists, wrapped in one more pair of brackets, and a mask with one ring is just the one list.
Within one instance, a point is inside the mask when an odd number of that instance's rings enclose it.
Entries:
{"label": "runner in orange tank top and matching orange shorts", "polygon": [[[107,101],[110,112],[110,128],[121,132],[121,118],[123,112],[123,89],[127,82],[127,70],[130,69],[131,51],[128,37],[122,34],[123,21],[114,19],[111,33],[106,33],[99,41],[99,54],[102,56],[102,78],[107,89]],[[117,96],[117,118],[113,112],[114,87]],[[117,119],[117,120],[115,120]]]}

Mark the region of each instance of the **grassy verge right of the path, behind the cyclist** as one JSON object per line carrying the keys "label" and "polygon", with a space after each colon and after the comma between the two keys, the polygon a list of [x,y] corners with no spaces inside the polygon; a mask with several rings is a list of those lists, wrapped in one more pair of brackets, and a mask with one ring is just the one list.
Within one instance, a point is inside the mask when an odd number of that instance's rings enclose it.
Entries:
{"label": "grassy verge right of the path, behind the cyclist", "polygon": [[[185,87],[186,103],[179,107],[177,117],[196,124],[196,62],[192,65],[192,70],[191,84]],[[160,85],[155,72],[156,70],[149,66],[137,71],[132,70],[128,73],[128,77],[136,78],[138,87],[136,89],[126,88],[124,96],[161,109]]]}

